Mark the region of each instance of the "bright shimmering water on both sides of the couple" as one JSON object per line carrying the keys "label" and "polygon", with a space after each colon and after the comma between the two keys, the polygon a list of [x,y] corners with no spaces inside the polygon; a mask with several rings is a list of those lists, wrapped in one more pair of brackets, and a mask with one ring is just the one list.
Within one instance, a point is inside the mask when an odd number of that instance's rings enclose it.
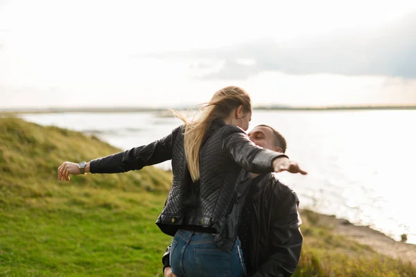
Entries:
{"label": "bright shimmering water on both sides of the couple", "polygon": [[[160,139],[180,124],[152,113],[22,117],[96,134],[123,150]],[[286,137],[288,156],[309,171],[306,177],[279,173],[299,195],[300,208],[368,225],[396,240],[406,233],[416,243],[415,119],[415,110],[254,111],[250,128],[275,127]]]}

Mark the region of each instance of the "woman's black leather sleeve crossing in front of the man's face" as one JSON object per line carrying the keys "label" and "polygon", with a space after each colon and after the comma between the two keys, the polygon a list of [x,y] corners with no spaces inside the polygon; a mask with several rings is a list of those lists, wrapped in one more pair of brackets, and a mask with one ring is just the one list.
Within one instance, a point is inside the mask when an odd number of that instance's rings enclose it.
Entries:
{"label": "woman's black leather sleeve crossing in front of the man's face", "polygon": [[229,159],[238,163],[242,168],[252,173],[273,172],[272,162],[277,157],[286,157],[272,150],[255,145],[243,129],[234,125],[223,127],[221,133],[221,148]]}

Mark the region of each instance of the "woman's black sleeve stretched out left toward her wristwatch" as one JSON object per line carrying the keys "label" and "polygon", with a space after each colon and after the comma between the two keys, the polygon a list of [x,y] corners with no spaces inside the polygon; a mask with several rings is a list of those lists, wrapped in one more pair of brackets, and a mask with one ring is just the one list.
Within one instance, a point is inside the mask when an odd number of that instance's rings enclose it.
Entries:
{"label": "woman's black sleeve stretched out left toward her wristwatch", "polygon": [[172,159],[173,139],[180,127],[171,134],[148,145],[98,158],[90,161],[91,173],[120,173],[130,170],[140,170],[144,166],[152,166]]}

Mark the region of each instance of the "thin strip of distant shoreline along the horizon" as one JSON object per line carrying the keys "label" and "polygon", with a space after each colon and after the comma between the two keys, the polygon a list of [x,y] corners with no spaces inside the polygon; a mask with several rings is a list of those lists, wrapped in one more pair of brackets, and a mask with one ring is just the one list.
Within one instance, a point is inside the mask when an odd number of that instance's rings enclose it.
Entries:
{"label": "thin strip of distant shoreline along the horizon", "polygon": [[[190,107],[176,108],[179,110],[191,109]],[[279,107],[257,106],[259,111],[345,111],[345,110],[399,110],[416,109],[416,106],[345,106],[345,107]],[[85,107],[85,108],[46,108],[46,109],[0,109],[0,114],[59,114],[59,113],[126,113],[126,112],[160,112],[168,111],[167,107]]]}

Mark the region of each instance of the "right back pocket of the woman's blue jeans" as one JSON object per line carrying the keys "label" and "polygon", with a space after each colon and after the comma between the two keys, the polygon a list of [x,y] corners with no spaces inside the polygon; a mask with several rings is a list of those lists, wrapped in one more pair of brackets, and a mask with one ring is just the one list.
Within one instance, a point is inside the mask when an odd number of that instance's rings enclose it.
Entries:
{"label": "right back pocket of the woman's blue jeans", "polygon": [[227,252],[221,249],[194,249],[193,255],[200,276],[229,276],[229,256]]}

